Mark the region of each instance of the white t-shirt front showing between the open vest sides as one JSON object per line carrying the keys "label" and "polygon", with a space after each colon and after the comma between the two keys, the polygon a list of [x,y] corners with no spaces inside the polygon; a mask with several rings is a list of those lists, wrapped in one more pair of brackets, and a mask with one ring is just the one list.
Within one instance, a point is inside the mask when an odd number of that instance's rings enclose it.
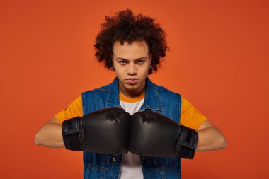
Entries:
{"label": "white t-shirt front showing between the open vest sides", "polygon": [[[137,112],[142,104],[144,103],[144,98],[134,103],[129,103],[120,100],[121,107],[129,112],[130,115],[133,115]],[[142,166],[140,157],[137,154],[132,154],[128,152],[127,154],[122,155],[122,168],[120,171],[120,179],[142,179]]]}

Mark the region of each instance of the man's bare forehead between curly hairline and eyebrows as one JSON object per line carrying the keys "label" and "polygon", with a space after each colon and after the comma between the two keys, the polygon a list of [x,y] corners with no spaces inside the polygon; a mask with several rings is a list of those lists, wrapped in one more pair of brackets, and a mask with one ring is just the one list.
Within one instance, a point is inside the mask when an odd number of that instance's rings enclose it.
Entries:
{"label": "man's bare forehead between curly hairline and eyebrows", "polygon": [[122,45],[117,41],[113,45],[113,56],[115,58],[133,59],[142,56],[147,57],[148,54],[149,49],[147,43],[144,41],[124,42]]}

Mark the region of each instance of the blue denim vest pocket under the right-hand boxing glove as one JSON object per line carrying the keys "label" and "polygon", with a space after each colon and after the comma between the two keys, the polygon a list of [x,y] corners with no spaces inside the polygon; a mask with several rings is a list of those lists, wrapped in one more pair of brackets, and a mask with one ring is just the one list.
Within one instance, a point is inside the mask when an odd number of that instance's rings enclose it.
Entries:
{"label": "blue denim vest pocket under the right-hand boxing glove", "polygon": [[154,157],[154,165],[159,171],[171,171],[173,168],[178,167],[180,158],[161,158]]}

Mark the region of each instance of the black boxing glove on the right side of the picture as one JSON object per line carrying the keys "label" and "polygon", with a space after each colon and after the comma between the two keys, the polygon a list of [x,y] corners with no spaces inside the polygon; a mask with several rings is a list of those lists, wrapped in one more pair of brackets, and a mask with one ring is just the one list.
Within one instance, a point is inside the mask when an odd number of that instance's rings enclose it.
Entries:
{"label": "black boxing glove on the right side of the picture", "polygon": [[157,112],[131,117],[129,151],[143,156],[193,159],[198,133]]}

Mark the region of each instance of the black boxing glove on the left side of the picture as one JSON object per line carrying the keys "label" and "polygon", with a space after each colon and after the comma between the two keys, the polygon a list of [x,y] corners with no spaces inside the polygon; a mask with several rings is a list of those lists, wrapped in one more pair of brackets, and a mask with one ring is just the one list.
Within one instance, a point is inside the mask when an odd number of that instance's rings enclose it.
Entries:
{"label": "black boxing glove on the left side of the picture", "polygon": [[122,154],[128,151],[130,114],[122,108],[105,108],[62,123],[66,149]]}

